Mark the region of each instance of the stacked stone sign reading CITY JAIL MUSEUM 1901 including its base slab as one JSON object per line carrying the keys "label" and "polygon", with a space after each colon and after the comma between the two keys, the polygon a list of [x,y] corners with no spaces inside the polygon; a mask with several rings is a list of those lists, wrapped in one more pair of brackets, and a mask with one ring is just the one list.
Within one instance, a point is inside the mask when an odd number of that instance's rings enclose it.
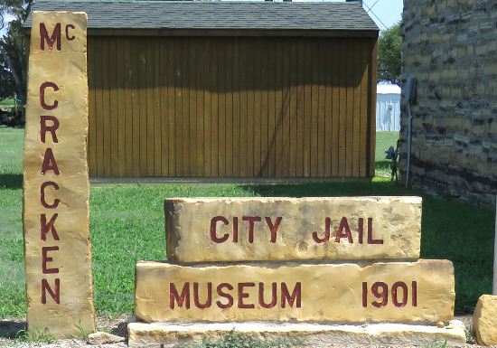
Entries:
{"label": "stacked stone sign reading CITY JAIL MUSEUM 1901 including its base slab", "polygon": [[230,330],[316,348],[464,343],[464,324],[452,320],[452,262],[419,259],[421,203],[166,199],[168,260],[136,264],[129,346],[200,343]]}

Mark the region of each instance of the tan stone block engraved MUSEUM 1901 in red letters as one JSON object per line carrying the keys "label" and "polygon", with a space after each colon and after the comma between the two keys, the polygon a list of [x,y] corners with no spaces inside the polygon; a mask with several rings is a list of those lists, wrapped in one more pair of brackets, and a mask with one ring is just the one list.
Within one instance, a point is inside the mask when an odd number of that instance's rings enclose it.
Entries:
{"label": "tan stone block engraved MUSEUM 1901 in red letters", "polygon": [[140,321],[433,322],[454,312],[454,268],[417,262],[189,264],[140,261]]}

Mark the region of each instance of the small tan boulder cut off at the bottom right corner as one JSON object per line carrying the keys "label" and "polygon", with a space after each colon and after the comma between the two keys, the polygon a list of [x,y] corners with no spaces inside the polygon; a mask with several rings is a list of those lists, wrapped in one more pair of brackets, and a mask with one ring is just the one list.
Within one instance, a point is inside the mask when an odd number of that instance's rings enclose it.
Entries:
{"label": "small tan boulder cut off at the bottom right corner", "polygon": [[473,330],[478,343],[497,345],[497,296],[483,295],[478,299]]}

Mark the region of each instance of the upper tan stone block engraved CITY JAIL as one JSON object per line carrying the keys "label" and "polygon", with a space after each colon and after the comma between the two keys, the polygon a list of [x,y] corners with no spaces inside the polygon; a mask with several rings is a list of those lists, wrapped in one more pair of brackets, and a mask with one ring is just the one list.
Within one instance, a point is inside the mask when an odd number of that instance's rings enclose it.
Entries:
{"label": "upper tan stone block engraved CITY JAIL", "polygon": [[[165,200],[164,212],[168,259],[182,262],[419,258],[420,197],[177,198]],[[225,220],[213,221],[216,217]],[[248,219],[253,217],[258,221],[252,222],[250,242]],[[326,218],[329,240],[320,242]],[[342,238],[337,240],[337,234]]]}

